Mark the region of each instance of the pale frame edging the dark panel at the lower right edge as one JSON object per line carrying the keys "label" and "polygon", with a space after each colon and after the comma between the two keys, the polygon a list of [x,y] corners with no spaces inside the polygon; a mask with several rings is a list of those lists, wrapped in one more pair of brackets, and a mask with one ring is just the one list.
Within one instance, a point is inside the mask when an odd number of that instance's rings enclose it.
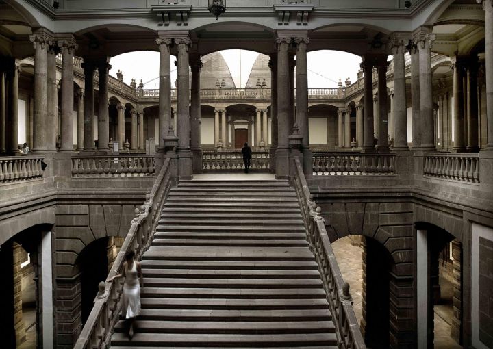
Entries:
{"label": "pale frame edging the dark panel at the lower right edge", "polygon": [[[493,241],[493,229],[480,224],[472,223],[471,240],[471,328],[472,346],[476,349],[488,349],[479,340],[479,237]],[[481,305],[484,307],[485,305]]]}

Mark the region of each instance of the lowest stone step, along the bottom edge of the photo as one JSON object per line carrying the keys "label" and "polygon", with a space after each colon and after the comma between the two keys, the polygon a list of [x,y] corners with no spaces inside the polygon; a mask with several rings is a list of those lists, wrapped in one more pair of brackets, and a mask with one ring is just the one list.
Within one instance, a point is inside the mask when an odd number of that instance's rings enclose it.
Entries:
{"label": "lowest stone step, along the bottom edge of the photo", "polygon": [[178,333],[136,333],[129,342],[125,333],[114,333],[112,348],[114,346],[190,346],[197,345],[207,348],[218,346],[229,348],[231,346],[260,346],[260,348],[278,348],[279,346],[335,346],[335,333],[300,333],[280,335],[238,335],[238,334],[178,334]]}

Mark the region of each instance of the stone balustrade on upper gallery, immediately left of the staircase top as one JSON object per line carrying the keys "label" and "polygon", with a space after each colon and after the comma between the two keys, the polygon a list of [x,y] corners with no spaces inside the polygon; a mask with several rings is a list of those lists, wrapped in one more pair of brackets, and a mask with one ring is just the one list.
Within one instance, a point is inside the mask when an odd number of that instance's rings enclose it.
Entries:
{"label": "stone balustrade on upper gallery, immediately left of the staircase top", "polygon": [[155,173],[153,155],[75,155],[73,177],[143,177]]}

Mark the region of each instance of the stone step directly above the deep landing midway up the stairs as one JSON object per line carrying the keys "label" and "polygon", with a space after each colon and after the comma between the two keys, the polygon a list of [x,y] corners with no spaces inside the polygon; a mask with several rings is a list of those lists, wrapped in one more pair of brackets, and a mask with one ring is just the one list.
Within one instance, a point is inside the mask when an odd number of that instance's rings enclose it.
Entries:
{"label": "stone step directly above the deep landing midway up the stairs", "polygon": [[154,239],[152,246],[307,246],[306,240],[274,240],[274,239]]}

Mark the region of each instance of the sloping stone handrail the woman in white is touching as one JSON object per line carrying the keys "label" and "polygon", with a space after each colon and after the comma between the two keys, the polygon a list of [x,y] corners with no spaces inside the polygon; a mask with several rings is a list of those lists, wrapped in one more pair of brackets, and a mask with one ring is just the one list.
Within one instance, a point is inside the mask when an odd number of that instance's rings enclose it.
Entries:
{"label": "sloping stone handrail the woman in white is touching", "polygon": [[[165,159],[151,192],[146,195],[144,204],[140,209],[136,208],[135,210],[136,217],[131,221],[129,232],[106,280],[120,274],[125,255],[130,250],[133,249],[136,252],[136,259],[140,260],[142,254],[149,248],[160,210],[172,184],[170,159]],[[122,289],[122,279],[99,283],[99,292],[94,299],[94,307],[92,307],[88,320],[75,343],[75,349],[110,347],[111,335],[116,322],[118,322],[118,314],[121,309]]]}

